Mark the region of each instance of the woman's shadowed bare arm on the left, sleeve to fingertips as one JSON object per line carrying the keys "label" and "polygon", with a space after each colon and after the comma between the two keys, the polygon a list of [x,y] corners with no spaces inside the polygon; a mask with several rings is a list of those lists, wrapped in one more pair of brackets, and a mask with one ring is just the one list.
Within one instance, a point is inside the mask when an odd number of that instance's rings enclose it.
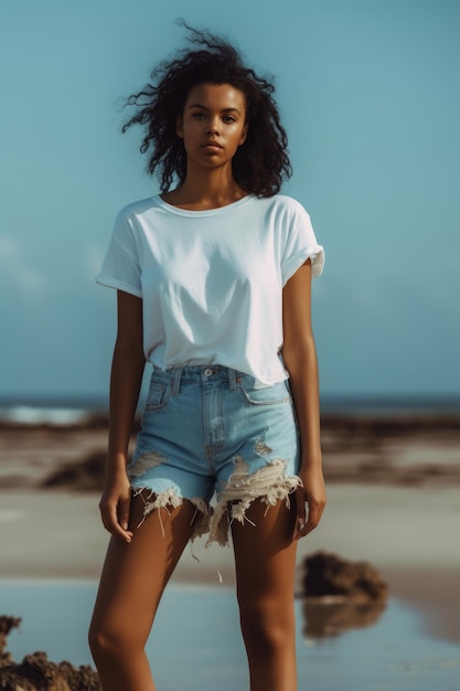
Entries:
{"label": "woman's shadowed bare arm on the left, sleeve to fingertips", "polygon": [[142,300],[117,291],[118,330],[110,375],[109,442],[106,482],[99,502],[106,529],[126,542],[131,492],[126,474],[132,419],[146,364],[142,350]]}

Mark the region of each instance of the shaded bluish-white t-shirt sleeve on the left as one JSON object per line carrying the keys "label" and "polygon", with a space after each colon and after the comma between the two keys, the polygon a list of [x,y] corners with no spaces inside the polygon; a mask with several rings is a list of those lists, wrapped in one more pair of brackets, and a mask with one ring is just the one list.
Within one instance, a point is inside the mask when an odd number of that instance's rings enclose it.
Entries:
{"label": "shaded bluish-white t-shirt sleeve on the left", "polygon": [[142,297],[138,247],[131,224],[122,211],[115,221],[110,244],[96,283]]}

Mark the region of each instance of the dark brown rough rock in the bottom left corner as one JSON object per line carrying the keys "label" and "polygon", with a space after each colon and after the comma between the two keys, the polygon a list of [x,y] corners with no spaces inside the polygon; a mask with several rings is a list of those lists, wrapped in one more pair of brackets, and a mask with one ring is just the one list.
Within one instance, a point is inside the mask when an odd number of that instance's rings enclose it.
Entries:
{"label": "dark brown rough rock in the bottom left corner", "polygon": [[45,652],[26,655],[14,662],[4,651],[7,638],[21,619],[0,616],[0,689],[2,691],[100,691],[96,672],[88,666],[51,662]]}

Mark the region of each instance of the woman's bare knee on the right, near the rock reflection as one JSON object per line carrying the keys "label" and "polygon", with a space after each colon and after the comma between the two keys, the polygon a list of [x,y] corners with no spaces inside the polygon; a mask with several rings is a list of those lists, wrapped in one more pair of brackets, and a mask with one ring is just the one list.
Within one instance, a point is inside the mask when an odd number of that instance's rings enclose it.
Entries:
{"label": "woman's bare knee on the right, near the rock reflection", "polygon": [[260,655],[279,650],[295,637],[292,602],[239,599],[239,618],[246,646]]}

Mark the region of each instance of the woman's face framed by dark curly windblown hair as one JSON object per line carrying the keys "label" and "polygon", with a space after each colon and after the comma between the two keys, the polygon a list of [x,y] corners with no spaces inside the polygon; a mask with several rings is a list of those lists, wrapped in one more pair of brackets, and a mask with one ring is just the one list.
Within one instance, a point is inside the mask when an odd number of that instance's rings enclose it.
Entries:
{"label": "woman's face framed by dark curly windblown hair", "polygon": [[247,135],[244,94],[229,84],[199,84],[190,92],[178,136],[189,163],[216,168],[228,163]]}

